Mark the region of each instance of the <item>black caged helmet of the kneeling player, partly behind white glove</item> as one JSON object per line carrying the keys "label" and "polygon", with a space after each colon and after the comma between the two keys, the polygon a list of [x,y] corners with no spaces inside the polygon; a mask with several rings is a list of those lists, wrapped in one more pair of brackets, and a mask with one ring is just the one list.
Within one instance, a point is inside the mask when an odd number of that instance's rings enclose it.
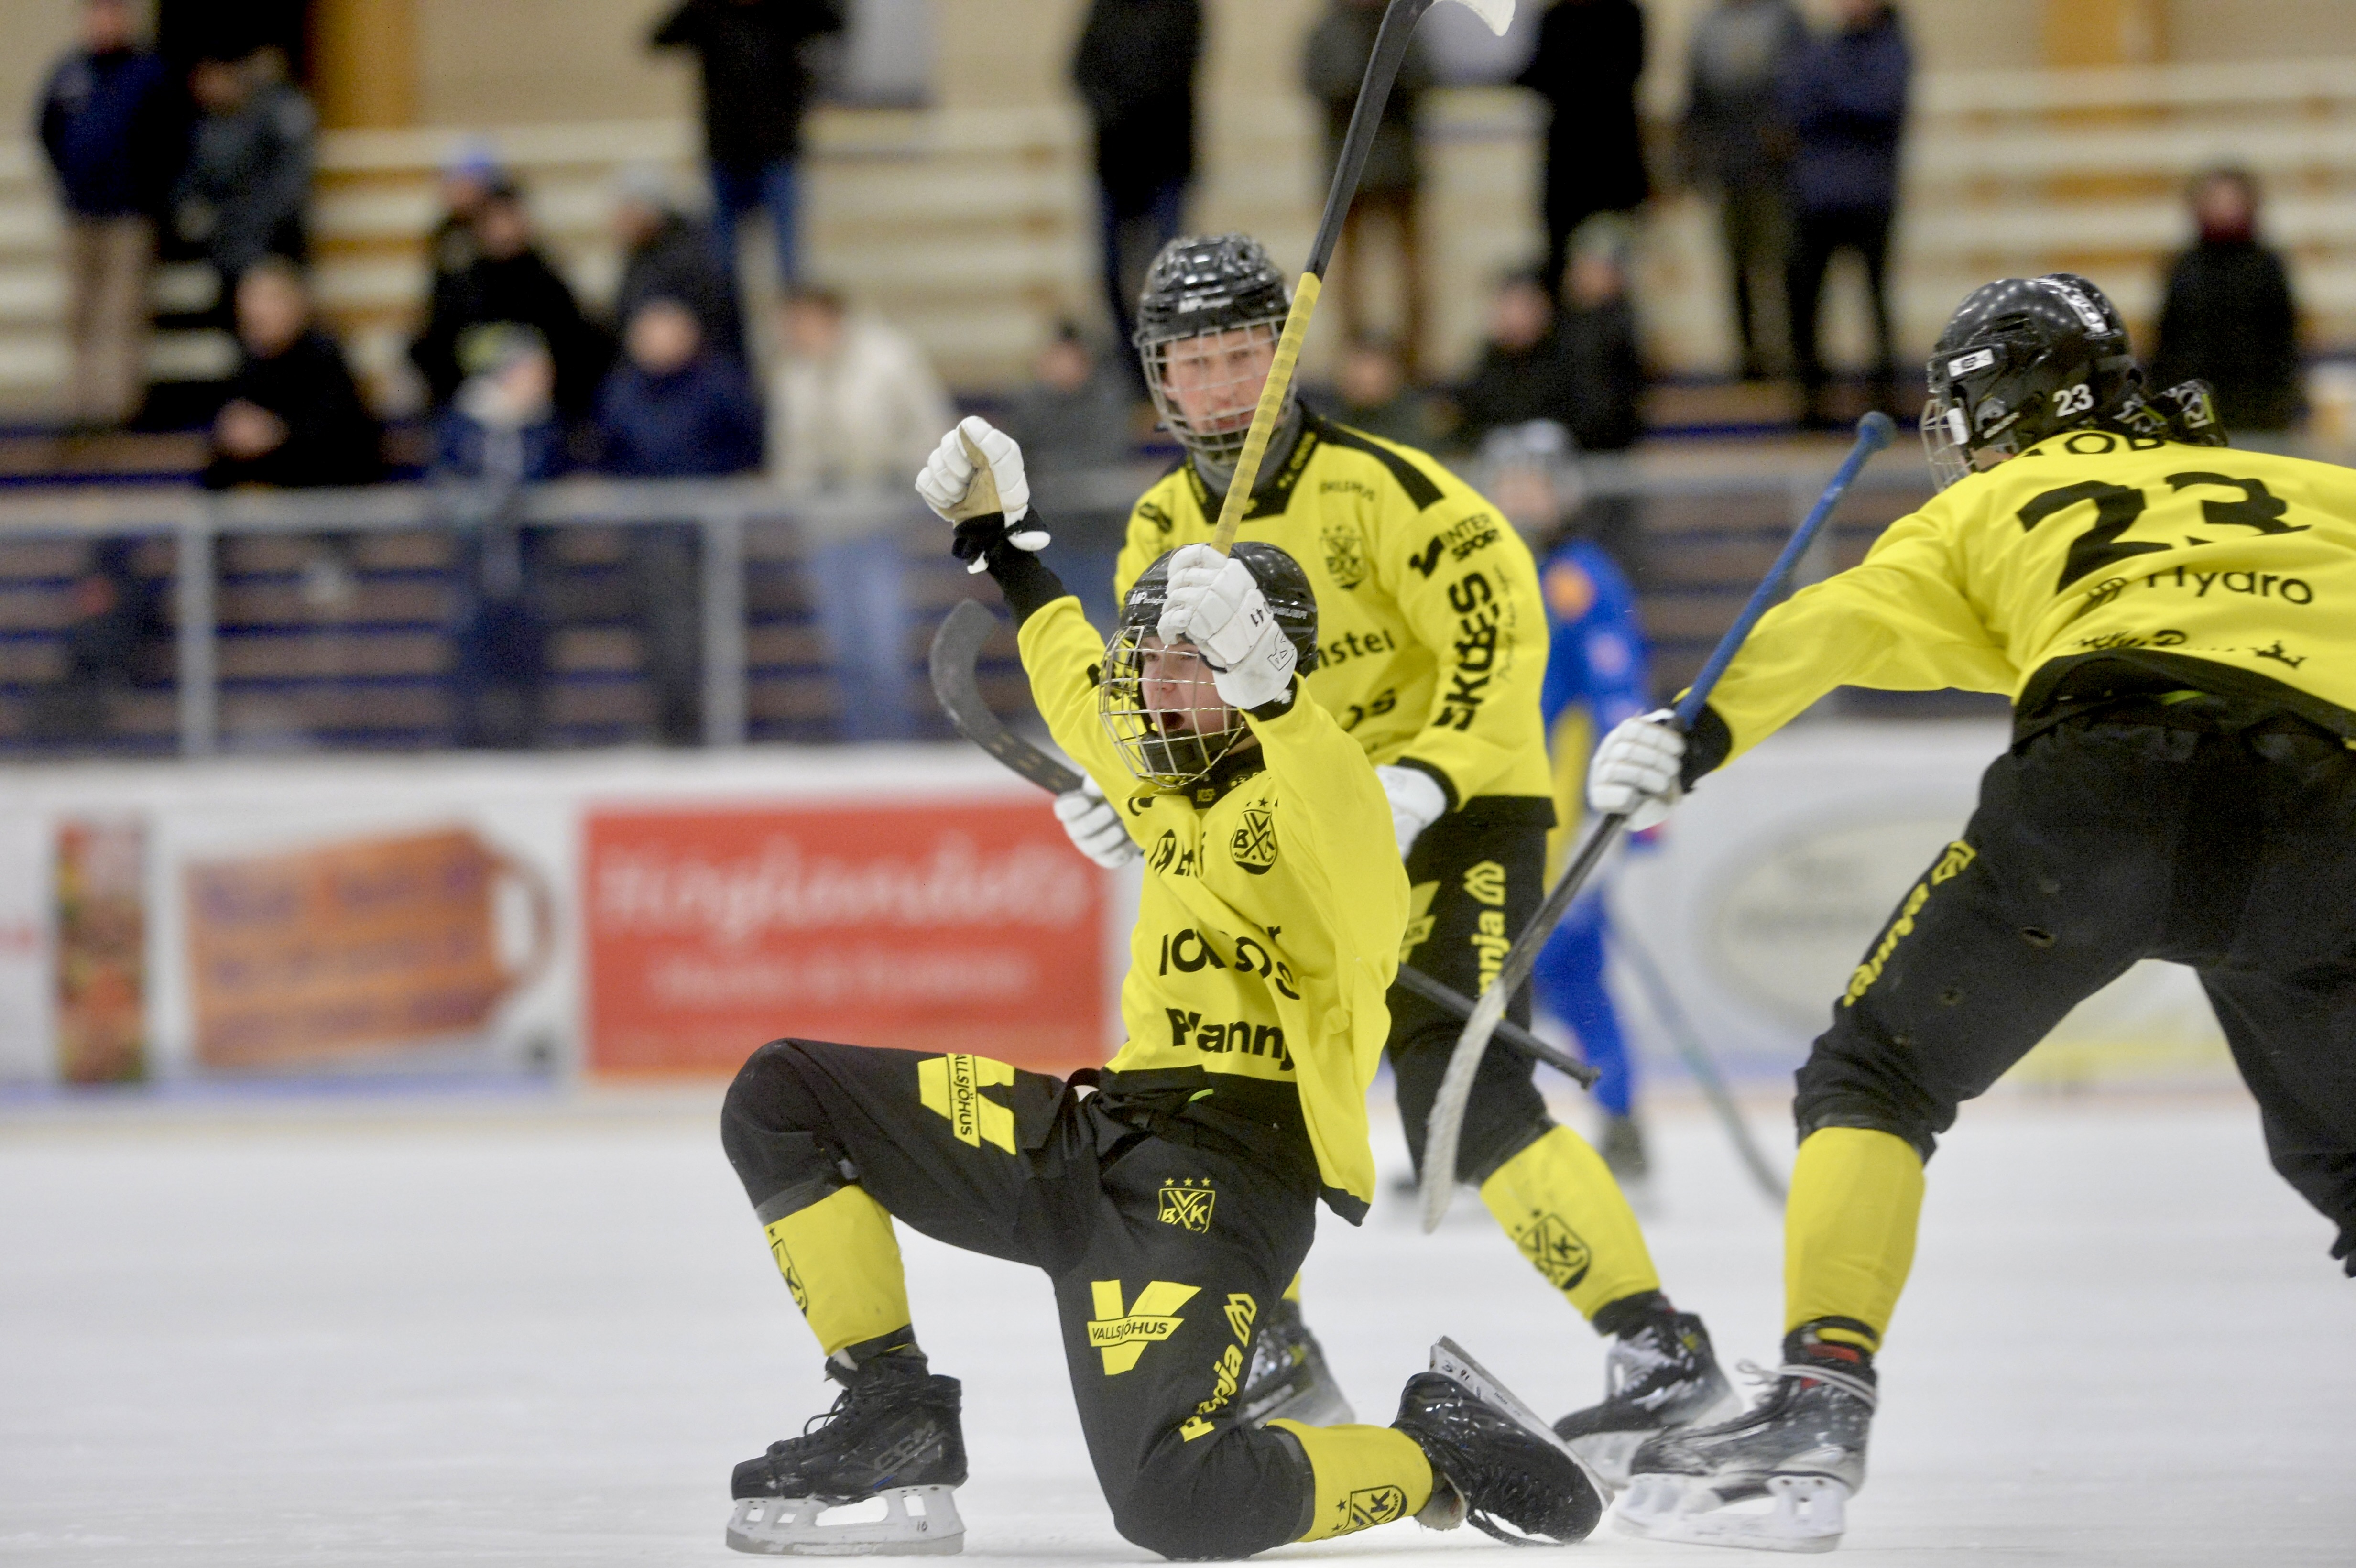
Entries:
{"label": "black caged helmet of the kneeling player, partly behind white glove", "polygon": [[[1121,624],[1105,643],[1105,666],[1096,685],[1096,711],[1105,720],[1112,749],[1129,772],[1147,784],[1185,789],[1211,772],[1244,739],[1244,716],[1230,709],[1211,680],[1211,666],[1187,643],[1162,643],[1162,607],[1169,603],[1171,556],[1164,553],[1121,600]],[[1317,591],[1308,572],[1275,544],[1244,539],[1235,558],[1260,586],[1277,631],[1293,645],[1298,673],[1317,669]],[[1152,669],[1147,669],[1147,662]],[[1157,690],[1164,695],[1154,702]],[[1180,690],[1183,704],[1166,695]]]}

